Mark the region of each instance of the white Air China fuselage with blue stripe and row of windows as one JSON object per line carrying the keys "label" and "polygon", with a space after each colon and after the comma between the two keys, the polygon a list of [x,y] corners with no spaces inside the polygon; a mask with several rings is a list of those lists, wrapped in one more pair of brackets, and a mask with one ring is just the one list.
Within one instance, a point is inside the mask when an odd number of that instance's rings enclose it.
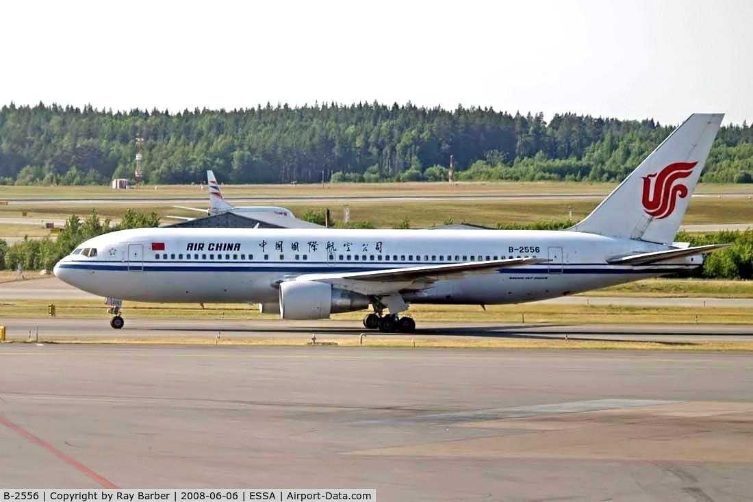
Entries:
{"label": "white Air China fuselage with blue stripe and row of windows", "polygon": [[[97,249],[83,256],[81,249]],[[141,302],[277,302],[301,274],[371,271],[531,256],[543,265],[500,268],[401,292],[406,302],[505,304],[554,298],[694,268],[607,259],[669,246],[572,231],[145,228],[81,244],[55,274],[95,295]],[[91,254],[91,253],[87,253]]]}

